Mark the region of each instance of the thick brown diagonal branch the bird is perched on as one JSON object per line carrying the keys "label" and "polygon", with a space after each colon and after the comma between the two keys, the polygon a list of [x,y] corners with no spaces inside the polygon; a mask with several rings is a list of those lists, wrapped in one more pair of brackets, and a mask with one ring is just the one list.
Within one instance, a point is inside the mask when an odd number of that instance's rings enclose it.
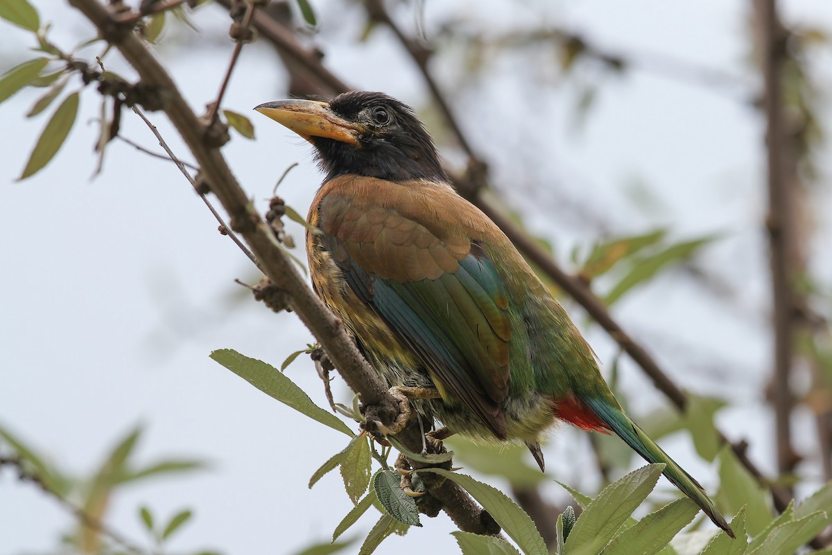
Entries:
{"label": "thick brown diagonal branch the bird is perched on", "polygon": [[[111,8],[100,0],[69,0],[96,27],[102,37],[118,47],[126,61],[136,69],[146,89],[156,89],[164,99],[162,109],[191,150],[201,168],[201,176],[210,186],[225,211],[230,215],[230,228],[243,236],[260,262],[265,275],[279,289],[289,295],[289,305],[310,329],[326,351],[339,374],[353,391],[359,394],[364,406],[372,406],[383,424],[389,424],[399,414],[399,406],[389,394],[384,382],[359,354],[354,342],[344,330],[344,324],[324,306],[306,285],[294,263],[277,243],[269,225],[255,211],[245,191],[231,173],[219,148],[206,142],[206,126],[182,97],[176,83],[156,60],[153,53],[136,33],[116,22]],[[260,10],[255,10],[260,12]],[[256,22],[256,18],[255,18]],[[413,451],[422,448],[418,426],[410,426],[397,436]],[[414,463],[414,466],[417,466]],[[450,480],[428,484],[428,493],[437,501],[433,508],[441,508],[463,531],[479,534],[499,533],[493,519],[479,508],[463,488]]]}

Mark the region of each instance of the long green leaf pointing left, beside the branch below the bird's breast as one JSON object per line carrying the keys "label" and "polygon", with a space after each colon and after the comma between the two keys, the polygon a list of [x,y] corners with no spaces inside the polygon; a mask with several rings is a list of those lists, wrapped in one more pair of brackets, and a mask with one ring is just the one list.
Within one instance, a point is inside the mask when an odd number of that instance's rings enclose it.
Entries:
{"label": "long green leaf pointing left, beside the branch below the bird's breast", "polygon": [[233,349],[215,350],[210,354],[210,358],[230,369],[263,393],[289,405],[292,409],[300,411],[310,419],[326,424],[329,428],[343,432],[349,437],[354,435],[338,417],[314,404],[303,389],[300,389],[271,364],[266,364],[262,360],[250,359]]}

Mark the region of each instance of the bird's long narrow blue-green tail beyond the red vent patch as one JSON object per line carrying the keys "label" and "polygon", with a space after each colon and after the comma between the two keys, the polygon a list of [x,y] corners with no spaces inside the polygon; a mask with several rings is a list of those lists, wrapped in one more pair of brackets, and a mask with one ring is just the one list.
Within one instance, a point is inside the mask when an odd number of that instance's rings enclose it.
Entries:
{"label": "bird's long narrow blue-green tail beyond the red vent patch", "polygon": [[694,503],[701,507],[702,511],[711,518],[716,526],[722,528],[731,538],[734,538],[734,531],[730,529],[725,517],[716,509],[701,485],[690,474],[686,473],[681,466],[676,464],[676,461],[670,458],[667,453],[662,451],[661,447],[656,445],[656,442],[648,438],[647,434],[642,432],[641,428],[629,419],[621,409],[613,407],[603,399],[583,399],[583,401],[618,437],[623,439],[647,462],[665,463],[664,475],[666,478],[676,488],[681,489],[686,496],[693,499]]}

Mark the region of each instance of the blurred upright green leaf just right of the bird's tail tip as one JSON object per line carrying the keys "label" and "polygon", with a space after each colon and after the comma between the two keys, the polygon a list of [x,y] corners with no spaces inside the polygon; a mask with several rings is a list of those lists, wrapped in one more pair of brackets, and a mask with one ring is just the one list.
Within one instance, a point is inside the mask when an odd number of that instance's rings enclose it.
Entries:
{"label": "blurred upright green leaf just right of the bird's tail tip", "polygon": [[768,492],[740,464],[728,445],[720,450],[719,474],[720,490],[716,497],[728,513],[737,514],[746,507],[745,525],[751,538],[755,538],[774,518]]}

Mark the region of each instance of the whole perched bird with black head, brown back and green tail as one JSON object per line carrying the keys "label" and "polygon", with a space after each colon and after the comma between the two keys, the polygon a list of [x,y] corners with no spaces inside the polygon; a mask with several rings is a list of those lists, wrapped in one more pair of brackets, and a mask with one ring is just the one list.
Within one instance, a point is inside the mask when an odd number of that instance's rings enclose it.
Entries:
{"label": "whole perched bird with black head, brown back and green tail", "polygon": [[[617,434],[734,533],[705,490],[625,414],[566,310],[488,216],[459,196],[414,110],[383,92],[255,107],[326,173],[306,234],[315,293],[434,437],[523,442],[557,421]],[[428,392],[428,393],[426,393]]]}

